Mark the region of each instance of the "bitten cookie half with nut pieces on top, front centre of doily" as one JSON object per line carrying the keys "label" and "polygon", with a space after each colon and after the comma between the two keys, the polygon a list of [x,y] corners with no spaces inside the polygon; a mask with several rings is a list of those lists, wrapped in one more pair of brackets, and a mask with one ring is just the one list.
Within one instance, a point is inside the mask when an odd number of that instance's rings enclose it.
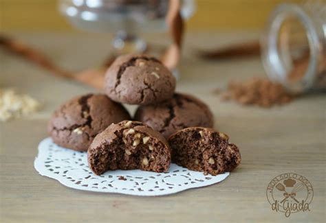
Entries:
{"label": "bitten cookie half with nut pieces on top, front centre of doily", "polygon": [[171,150],[166,139],[139,121],[111,124],[89,146],[89,168],[100,175],[113,169],[166,172]]}

